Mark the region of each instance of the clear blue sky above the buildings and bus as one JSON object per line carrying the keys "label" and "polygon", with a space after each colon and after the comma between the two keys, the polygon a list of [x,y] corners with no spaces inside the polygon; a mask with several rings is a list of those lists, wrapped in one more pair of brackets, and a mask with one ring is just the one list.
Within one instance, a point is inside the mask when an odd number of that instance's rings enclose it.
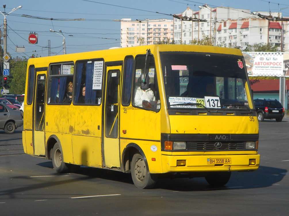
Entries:
{"label": "clear blue sky above the buildings and bus", "polygon": [[[12,58],[29,58],[32,54],[48,56],[48,40],[51,56],[63,54],[60,29],[65,37],[67,54],[120,47],[121,23],[114,20],[173,19],[170,14],[180,14],[187,7],[199,10],[203,4],[251,12],[281,12],[282,16],[289,17],[289,2],[286,0],[3,0],[1,3],[0,11],[4,12],[2,5],[5,4],[6,13],[22,6],[6,16],[7,51]],[[0,16],[3,20],[4,16]],[[85,21],[72,21],[83,18]],[[3,32],[2,22],[0,28]],[[50,29],[60,35],[50,32]],[[29,44],[30,32],[38,34],[38,44]],[[25,53],[16,52],[16,46],[25,47]]]}

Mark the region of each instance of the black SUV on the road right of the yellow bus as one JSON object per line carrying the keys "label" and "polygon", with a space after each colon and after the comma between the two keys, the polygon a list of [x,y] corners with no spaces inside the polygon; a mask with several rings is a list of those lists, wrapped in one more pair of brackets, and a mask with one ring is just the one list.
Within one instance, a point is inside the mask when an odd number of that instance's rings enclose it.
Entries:
{"label": "black SUV on the road right of the yellow bus", "polygon": [[277,122],[282,121],[284,117],[284,108],[276,99],[262,99],[254,100],[257,111],[258,121],[264,119],[276,119]]}

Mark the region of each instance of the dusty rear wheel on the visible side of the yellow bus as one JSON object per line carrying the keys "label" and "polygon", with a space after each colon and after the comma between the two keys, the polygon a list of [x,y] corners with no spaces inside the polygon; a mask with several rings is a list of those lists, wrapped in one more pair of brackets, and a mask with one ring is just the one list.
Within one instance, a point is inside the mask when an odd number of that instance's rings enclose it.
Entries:
{"label": "dusty rear wheel on the visible side of the yellow bus", "polygon": [[70,164],[63,162],[62,149],[58,143],[55,143],[52,149],[52,165],[56,172],[67,173],[70,169]]}

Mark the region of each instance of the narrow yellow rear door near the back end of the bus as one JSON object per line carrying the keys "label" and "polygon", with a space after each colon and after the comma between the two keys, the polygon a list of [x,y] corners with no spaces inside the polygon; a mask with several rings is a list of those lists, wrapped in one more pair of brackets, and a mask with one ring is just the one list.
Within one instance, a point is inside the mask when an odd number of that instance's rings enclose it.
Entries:
{"label": "narrow yellow rear door near the back end of the bus", "polygon": [[[46,71],[45,71],[46,73]],[[45,109],[45,84],[46,75],[43,71],[37,72],[36,74],[36,92],[34,100],[34,116],[33,122],[33,144],[34,144],[34,155],[45,156],[45,138],[44,138],[44,109]]]}

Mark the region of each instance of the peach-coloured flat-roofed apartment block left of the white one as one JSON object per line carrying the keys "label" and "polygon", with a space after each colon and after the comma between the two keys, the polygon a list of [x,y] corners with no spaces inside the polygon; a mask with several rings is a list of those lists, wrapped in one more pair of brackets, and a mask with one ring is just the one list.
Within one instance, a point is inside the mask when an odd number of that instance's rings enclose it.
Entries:
{"label": "peach-coloured flat-roofed apartment block left of the white one", "polygon": [[173,40],[173,20],[121,19],[121,47],[151,45]]}

